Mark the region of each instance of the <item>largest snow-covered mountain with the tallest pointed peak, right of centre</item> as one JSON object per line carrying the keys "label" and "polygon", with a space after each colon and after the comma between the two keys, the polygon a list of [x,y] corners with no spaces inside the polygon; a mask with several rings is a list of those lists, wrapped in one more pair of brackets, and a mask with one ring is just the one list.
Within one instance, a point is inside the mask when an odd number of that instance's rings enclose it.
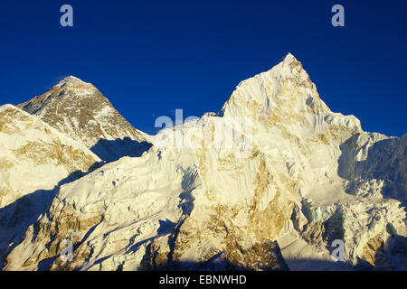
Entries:
{"label": "largest snow-covered mountain with the tallest pointed peak, right of centre", "polygon": [[293,55],[148,140],[62,185],[4,269],[406,269],[407,135],[332,112]]}

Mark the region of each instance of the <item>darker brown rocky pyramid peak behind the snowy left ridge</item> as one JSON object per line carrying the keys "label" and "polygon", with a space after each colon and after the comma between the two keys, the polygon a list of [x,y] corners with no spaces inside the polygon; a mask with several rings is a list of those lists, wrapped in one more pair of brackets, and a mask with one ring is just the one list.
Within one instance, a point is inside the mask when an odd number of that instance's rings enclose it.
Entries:
{"label": "darker brown rocky pyramid peak behind the snowy left ridge", "polygon": [[148,135],[131,126],[98,89],[72,76],[18,107],[92,148],[107,162],[148,144]]}

